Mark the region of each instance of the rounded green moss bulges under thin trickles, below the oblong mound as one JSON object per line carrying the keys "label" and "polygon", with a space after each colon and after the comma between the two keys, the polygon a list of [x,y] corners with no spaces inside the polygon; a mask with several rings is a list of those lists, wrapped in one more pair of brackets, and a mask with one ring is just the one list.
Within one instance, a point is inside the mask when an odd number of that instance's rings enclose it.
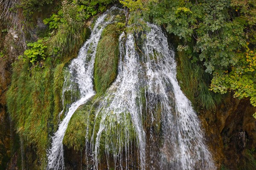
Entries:
{"label": "rounded green moss bulges under thin trickles, below the oblong mound", "polygon": [[[86,104],[81,105],[73,114],[63,140],[63,144],[68,148],[73,148],[76,151],[83,150],[87,130],[87,138],[89,141],[93,139],[95,144],[101,123],[105,125],[105,128],[101,133],[99,157],[105,154],[106,144],[109,145],[109,152],[117,155],[119,146],[124,147],[125,142],[132,142],[136,139],[136,130],[130,113],[120,113],[119,119],[117,119],[116,114],[108,113],[107,116],[104,116],[105,119],[102,122],[102,114],[105,114],[105,110],[99,108],[101,101],[102,99],[97,99],[95,96]],[[101,109],[101,111],[96,114],[98,109]]]}

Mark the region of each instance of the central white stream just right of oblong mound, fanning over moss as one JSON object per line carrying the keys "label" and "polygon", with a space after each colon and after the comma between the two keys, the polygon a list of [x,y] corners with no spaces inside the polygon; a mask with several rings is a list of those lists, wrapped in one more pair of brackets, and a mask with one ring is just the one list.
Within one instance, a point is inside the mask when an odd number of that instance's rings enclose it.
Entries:
{"label": "central white stream just right of oblong mound, fanning over moss", "polygon": [[[137,96],[139,96],[140,90],[140,64],[138,63],[138,55],[134,47],[134,37],[131,35],[128,36],[125,44],[126,51],[124,53],[122,46],[123,36],[124,34],[119,39],[119,74],[116,77],[116,81],[108,89],[99,110],[96,112],[96,119],[100,117],[101,120],[94,145],[94,169],[98,169],[98,155],[102,133],[110,137],[110,140],[105,142],[105,150],[107,151],[107,155],[109,155],[109,151],[113,153],[114,161],[116,162],[117,158],[115,156],[122,153],[122,147],[125,147],[125,155],[127,158],[129,157],[130,134],[135,131],[137,143],[140,144],[140,166],[142,169],[145,164],[145,133],[142,125],[141,108],[137,105]],[[116,122],[120,128],[116,128]],[[113,133],[113,129],[116,130],[116,134]],[[122,169],[121,155],[119,155],[119,161],[120,168]],[[128,160],[125,161],[127,162]],[[128,169],[128,164],[125,166]]]}

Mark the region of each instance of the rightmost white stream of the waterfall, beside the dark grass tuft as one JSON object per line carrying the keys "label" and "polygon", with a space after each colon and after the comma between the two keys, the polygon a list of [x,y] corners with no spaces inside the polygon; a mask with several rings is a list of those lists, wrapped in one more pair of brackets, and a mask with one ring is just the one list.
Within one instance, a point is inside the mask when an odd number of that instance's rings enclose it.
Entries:
{"label": "rightmost white stream of the waterfall, beside the dark grass tuft", "polygon": [[204,143],[199,119],[176,79],[174,52],[169,50],[161,29],[149,26],[151,31],[143,44],[143,60],[148,78],[147,103],[150,105],[155,99],[161,103],[163,143],[160,146],[160,167],[213,170],[215,165]]}

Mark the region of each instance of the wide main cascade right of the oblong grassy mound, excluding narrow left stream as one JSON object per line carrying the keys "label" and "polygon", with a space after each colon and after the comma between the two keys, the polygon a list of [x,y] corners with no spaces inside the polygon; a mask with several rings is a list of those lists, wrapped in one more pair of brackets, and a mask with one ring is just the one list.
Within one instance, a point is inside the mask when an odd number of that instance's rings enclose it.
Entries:
{"label": "wide main cascade right of the oblong grassy mound, excluding narrow left stream", "polygon": [[[148,26],[139,52],[132,34],[125,45],[125,34],[119,38],[118,75],[96,111],[96,139],[86,136],[94,169],[103,148],[108,167],[112,153],[117,169],[214,170],[199,119],[178,85],[174,52],[161,29]],[[139,163],[129,156],[134,141]]]}

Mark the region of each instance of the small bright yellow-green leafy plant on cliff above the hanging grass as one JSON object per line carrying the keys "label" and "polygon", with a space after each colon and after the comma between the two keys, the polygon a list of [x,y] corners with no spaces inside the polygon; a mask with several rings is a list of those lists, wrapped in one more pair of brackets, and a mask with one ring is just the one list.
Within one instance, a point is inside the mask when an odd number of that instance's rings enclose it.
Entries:
{"label": "small bright yellow-green leafy plant on cliff above the hanging grass", "polygon": [[27,46],[30,47],[30,49],[25,50],[23,56],[19,56],[19,58],[22,58],[23,61],[29,59],[32,65],[35,65],[35,62],[46,58],[44,49],[46,49],[47,46],[43,44],[43,40],[30,42],[27,44]]}

